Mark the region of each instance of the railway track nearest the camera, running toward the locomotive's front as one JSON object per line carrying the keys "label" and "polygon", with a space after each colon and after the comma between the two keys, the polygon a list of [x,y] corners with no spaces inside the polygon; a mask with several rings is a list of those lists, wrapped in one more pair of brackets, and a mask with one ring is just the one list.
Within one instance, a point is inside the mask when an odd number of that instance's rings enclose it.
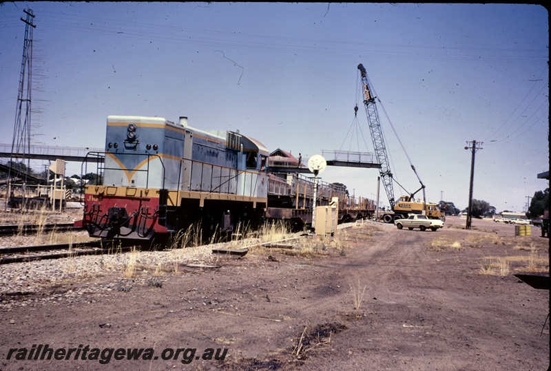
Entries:
{"label": "railway track nearest the camera, running toward the locomotive's front", "polygon": [[123,245],[118,240],[79,242],[78,244],[53,244],[37,246],[17,246],[0,248],[0,265],[21,262],[34,262],[45,259],[61,259],[81,255],[100,255],[114,252],[125,253],[134,244]]}

